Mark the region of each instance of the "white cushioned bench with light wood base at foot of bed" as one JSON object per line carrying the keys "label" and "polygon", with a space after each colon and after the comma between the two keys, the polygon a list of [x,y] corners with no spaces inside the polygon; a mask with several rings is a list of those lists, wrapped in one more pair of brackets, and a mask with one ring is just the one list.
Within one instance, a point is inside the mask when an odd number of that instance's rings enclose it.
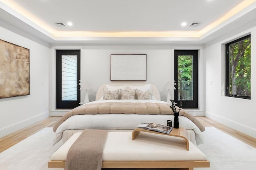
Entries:
{"label": "white cushioned bench with light wood base at foot of bed", "polygon": [[[48,168],[65,167],[68,150],[80,134],[75,133],[52,155]],[[193,170],[210,167],[204,153],[188,142],[190,149],[186,150],[186,141],[179,137],[141,132],[136,140],[132,140],[132,131],[111,131],[103,149],[102,168]]]}

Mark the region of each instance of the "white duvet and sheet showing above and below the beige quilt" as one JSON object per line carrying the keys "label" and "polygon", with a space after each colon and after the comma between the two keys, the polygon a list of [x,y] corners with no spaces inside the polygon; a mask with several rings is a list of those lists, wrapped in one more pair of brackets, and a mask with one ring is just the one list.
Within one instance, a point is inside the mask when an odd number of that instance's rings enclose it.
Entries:
{"label": "white duvet and sheet showing above and below the beige quilt", "polygon": [[[152,102],[167,103],[159,100],[98,100],[90,103],[100,102]],[[173,115],[139,115],[139,114],[96,114],[96,115],[73,115],[64,121],[56,130],[54,145],[62,139],[64,130],[77,129],[134,129],[142,122],[154,122],[166,125],[166,120],[174,120]],[[203,135],[200,129],[190,119],[179,116],[179,125],[187,130],[193,130],[196,135],[196,145],[203,143]]]}

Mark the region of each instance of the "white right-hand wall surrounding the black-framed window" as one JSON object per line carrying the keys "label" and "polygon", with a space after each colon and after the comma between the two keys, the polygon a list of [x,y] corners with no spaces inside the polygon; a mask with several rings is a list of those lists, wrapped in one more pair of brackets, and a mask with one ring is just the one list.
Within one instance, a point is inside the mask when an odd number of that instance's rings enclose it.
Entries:
{"label": "white right-hand wall surrounding the black-framed window", "polygon": [[[251,100],[225,96],[225,46],[251,33]],[[206,116],[233,129],[256,137],[256,27],[234,34],[228,39],[206,44]],[[210,84],[212,82],[212,85]]]}

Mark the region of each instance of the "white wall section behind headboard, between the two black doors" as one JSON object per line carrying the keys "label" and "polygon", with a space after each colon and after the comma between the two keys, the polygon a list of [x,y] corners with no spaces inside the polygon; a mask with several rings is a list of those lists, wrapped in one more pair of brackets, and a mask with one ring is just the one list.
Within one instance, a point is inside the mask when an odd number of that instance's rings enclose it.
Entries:
{"label": "white wall section behind headboard, between the two black doors", "polygon": [[[147,81],[155,84],[160,91],[161,100],[166,100],[166,90],[162,89],[168,81],[173,81],[173,60],[170,47],[85,47],[82,80],[94,87],[90,90],[90,100],[95,100],[98,87],[110,81],[111,54],[146,54]],[[116,81],[112,81],[115,83]],[[144,82],[144,81],[142,81]]]}

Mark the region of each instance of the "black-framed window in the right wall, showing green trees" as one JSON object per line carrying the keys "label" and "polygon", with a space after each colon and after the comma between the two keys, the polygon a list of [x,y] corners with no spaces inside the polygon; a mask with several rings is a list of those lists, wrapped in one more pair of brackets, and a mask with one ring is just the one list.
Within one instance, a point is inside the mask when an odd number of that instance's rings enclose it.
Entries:
{"label": "black-framed window in the right wall, showing green trees", "polygon": [[251,35],[226,44],[226,96],[251,99]]}

